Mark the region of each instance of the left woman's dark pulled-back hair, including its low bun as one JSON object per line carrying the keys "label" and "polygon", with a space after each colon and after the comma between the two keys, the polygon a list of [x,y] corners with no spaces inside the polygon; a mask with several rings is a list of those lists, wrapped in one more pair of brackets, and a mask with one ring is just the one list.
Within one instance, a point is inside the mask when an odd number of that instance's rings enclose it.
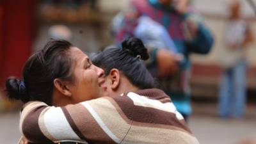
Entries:
{"label": "left woman's dark pulled-back hair, including its low bun", "polygon": [[66,40],[51,40],[44,49],[35,52],[26,61],[23,68],[23,81],[10,77],[6,81],[6,92],[10,99],[22,102],[40,100],[52,103],[53,81],[56,78],[73,80],[72,58],[68,50],[72,47]]}

